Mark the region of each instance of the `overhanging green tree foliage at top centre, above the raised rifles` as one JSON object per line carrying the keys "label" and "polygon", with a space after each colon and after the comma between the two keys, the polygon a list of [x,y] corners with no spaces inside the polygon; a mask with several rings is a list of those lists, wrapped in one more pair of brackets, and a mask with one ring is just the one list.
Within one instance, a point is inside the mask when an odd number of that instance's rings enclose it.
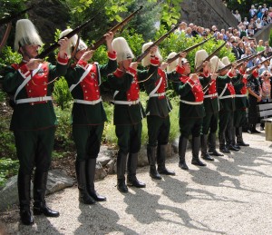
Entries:
{"label": "overhanging green tree foliage at top centre, above the raised rifles", "polygon": [[145,39],[151,38],[156,22],[161,20],[162,24],[167,24],[169,27],[171,24],[177,24],[180,19],[181,2],[182,0],[81,0],[79,5],[73,0],[64,1],[72,12],[71,26],[82,24],[86,19],[90,19],[90,15],[95,15],[93,24],[88,25],[83,31],[83,38],[95,41],[113,25],[138,9],[140,5],[143,9],[131,20],[130,28],[135,28],[138,34],[144,35]]}

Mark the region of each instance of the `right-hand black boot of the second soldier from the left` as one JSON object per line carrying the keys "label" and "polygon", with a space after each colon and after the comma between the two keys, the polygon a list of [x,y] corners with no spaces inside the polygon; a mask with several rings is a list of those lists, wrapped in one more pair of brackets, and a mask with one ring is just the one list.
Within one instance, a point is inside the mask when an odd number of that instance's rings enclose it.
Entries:
{"label": "right-hand black boot of the second soldier from the left", "polygon": [[94,199],[95,201],[106,201],[106,197],[99,195],[94,190],[95,166],[96,166],[95,158],[87,160],[86,164],[87,191],[89,195],[92,197],[92,199]]}

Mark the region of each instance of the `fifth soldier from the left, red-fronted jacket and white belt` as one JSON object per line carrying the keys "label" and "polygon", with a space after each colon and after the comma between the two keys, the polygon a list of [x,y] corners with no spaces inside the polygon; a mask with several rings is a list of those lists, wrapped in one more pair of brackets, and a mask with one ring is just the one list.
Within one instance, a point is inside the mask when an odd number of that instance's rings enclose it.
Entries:
{"label": "fifth soldier from the left, red-fronted jacket and white belt", "polygon": [[198,166],[206,166],[199,160],[200,130],[204,112],[204,93],[197,74],[190,74],[187,59],[181,59],[181,66],[177,71],[181,74],[180,82],[175,83],[175,90],[180,95],[180,141],[179,141],[179,166],[188,170],[185,154],[189,135],[192,135],[192,161]]}

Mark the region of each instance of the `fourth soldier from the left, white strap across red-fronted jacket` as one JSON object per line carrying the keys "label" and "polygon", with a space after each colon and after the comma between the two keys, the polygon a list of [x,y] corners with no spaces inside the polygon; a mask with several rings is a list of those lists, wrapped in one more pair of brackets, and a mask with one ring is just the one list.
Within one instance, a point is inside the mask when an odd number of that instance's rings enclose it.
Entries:
{"label": "fourth soldier from the left, white strap across red-fronted jacket", "polygon": [[[152,42],[143,44],[142,52],[151,46]],[[153,66],[151,61],[162,60],[159,49],[156,53],[147,55],[142,60],[144,67]],[[152,60],[151,60],[152,58]],[[170,116],[172,109],[170,100],[166,96],[166,88],[168,87],[168,79],[178,79],[179,73],[165,73],[164,68],[167,64],[161,64],[157,73],[154,73],[150,79],[144,83],[146,93],[149,95],[147,103],[147,125],[149,142],[147,145],[147,155],[150,163],[151,178],[160,180],[160,174],[175,175],[174,171],[169,171],[165,167],[165,159],[167,155],[167,144],[170,135]],[[158,171],[156,170],[156,160],[158,164]]]}

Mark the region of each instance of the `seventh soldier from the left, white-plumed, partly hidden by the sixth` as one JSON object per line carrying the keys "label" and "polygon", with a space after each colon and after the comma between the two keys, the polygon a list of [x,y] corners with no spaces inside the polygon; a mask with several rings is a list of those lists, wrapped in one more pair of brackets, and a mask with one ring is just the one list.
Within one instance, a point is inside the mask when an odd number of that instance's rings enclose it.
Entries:
{"label": "seventh soldier from the left, white-plumed, partly hidden by the sixth", "polygon": [[[218,56],[213,56],[210,59],[211,71],[218,72],[219,69],[225,67]],[[233,112],[235,110],[235,90],[231,84],[231,78],[235,75],[235,69],[227,71],[224,70],[219,73],[217,78],[217,91],[219,93],[219,151],[229,153],[228,146],[226,145],[226,131],[228,122],[233,122]],[[233,124],[230,123],[230,126]],[[229,145],[232,150],[233,146]]]}

